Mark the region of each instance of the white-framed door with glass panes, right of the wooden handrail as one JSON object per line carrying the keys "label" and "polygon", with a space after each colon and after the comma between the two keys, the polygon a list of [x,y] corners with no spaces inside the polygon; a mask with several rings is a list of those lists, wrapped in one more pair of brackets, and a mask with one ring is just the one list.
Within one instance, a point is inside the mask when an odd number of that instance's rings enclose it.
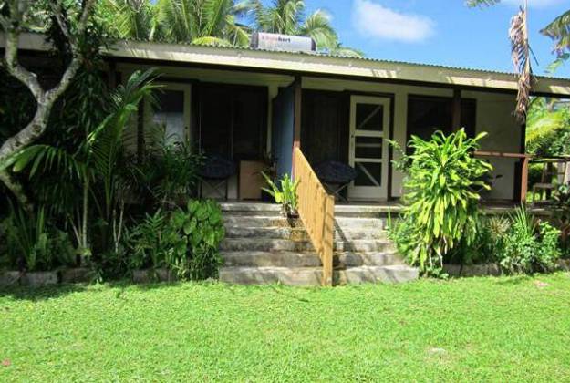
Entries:
{"label": "white-framed door with glass panes, right of the wooden handrail", "polygon": [[348,188],[355,201],[388,199],[390,98],[350,98],[350,166],[357,178]]}

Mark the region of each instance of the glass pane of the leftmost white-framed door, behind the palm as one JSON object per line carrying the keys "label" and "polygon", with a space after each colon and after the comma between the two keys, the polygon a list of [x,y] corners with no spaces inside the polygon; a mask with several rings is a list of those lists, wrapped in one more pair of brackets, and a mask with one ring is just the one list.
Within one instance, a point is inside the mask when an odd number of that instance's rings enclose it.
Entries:
{"label": "glass pane of the leftmost white-framed door, behind the palm", "polygon": [[157,92],[157,107],[152,115],[152,122],[164,129],[167,142],[184,141],[184,92],[165,90]]}

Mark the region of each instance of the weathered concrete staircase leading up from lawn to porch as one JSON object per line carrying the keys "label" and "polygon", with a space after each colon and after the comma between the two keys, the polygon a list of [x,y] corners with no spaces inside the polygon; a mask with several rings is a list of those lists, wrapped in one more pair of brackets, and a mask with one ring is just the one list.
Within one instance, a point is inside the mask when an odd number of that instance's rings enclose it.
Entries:
{"label": "weathered concrete staircase leading up from lawn to porch", "polygon": [[[320,285],[321,262],[303,223],[268,203],[223,203],[226,238],[220,280],[232,284]],[[387,238],[386,214],[376,207],[337,206],[335,285],[407,282],[418,271],[404,264]]]}

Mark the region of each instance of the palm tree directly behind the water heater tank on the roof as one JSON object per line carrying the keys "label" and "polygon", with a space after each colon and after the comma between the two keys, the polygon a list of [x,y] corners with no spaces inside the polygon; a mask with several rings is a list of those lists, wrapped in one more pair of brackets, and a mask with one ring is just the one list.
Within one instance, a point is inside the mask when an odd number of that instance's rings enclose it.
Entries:
{"label": "palm tree directly behind the water heater tank on the roof", "polygon": [[338,42],[337,32],[330,23],[326,11],[317,9],[309,16],[305,15],[304,0],[274,0],[272,5],[264,6],[261,0],[243,0],[238,8],[250,15],[252,27],[256,30],[294,36],[310,36],[316,47],[339,56],[362,57],[362,52],[349,47],[342,47]]}

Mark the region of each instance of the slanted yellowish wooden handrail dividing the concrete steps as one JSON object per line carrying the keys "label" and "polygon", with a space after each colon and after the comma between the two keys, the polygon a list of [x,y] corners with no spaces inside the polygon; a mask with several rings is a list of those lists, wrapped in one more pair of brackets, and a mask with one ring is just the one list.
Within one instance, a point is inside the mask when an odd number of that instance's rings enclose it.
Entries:
{"label": "slanted yellowish wooden handrail dividing the concrete steps", "polygon": [[335,198],[328,195],[303,152],[298,147],[294,152],[299,215],[323,264],[322,284],[330,286],[333,285]]}

